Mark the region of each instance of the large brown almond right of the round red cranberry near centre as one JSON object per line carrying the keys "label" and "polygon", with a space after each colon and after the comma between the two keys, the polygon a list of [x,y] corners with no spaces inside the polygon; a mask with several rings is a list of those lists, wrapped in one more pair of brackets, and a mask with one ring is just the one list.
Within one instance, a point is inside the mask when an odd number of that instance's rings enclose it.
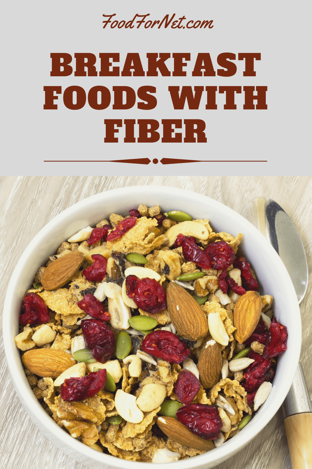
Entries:
{"label": "large brown almond right of the round red cranberry near centre", "polygon": [[188,340],[198,340],[208,333],[208,322],[199,304],[175,282],[167,286],[167,309],[178,334]]}

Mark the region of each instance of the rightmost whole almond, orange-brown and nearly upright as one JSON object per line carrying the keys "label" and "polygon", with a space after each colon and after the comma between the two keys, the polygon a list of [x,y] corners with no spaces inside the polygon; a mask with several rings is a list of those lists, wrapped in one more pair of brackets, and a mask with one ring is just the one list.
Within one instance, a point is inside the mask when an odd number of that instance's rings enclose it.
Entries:
{"label": "rightmost whole almond, orange-brown and nearly upright", "polygon": [[236,331],[235,339],[242,344],[254,332],[261,316],[261,296],[258,292],[250,290],[241,295],[235,303],[233,321]]}

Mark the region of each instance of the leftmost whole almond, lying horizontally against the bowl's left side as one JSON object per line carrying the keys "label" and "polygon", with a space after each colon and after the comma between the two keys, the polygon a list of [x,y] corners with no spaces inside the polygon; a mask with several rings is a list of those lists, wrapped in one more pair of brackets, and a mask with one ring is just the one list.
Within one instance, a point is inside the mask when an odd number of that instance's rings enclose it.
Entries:
{"label": "leftmost whole almond, lying horizontally against the bowl's left side", "polygon": [[22,356],[22,362],[26,368],[42,378],[58,378],[67,368],[75,364],[71,355],[51,348],[28,350]]}

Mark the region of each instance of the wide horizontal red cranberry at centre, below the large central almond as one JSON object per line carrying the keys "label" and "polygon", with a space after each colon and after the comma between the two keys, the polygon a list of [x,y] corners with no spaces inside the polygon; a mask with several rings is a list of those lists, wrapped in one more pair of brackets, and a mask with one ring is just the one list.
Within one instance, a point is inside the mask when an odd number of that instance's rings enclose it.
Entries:
{"label": "wide horizontal red cranberry at centre, below the large central almond", "polygon": [[181,363],[189,356],[189,349],[169,331],[155,331],[147,334],[142,342],[143,352],[158,356],[169,363]]}

